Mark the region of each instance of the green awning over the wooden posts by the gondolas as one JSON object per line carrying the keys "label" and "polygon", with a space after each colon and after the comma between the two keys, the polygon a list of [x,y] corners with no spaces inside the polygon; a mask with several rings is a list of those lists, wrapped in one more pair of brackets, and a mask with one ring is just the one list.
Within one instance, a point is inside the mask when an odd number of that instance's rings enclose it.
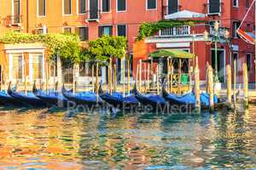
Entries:
{"label": "green awning over the wooden posts by the gondolas", "polygon": [[148,54],[149,57],[171,57],[171,58],[180,58],[180,59],[193,59],[195,54],[190,54],[183,50],[177,49],[159,49],[154,51],[151,54]]}

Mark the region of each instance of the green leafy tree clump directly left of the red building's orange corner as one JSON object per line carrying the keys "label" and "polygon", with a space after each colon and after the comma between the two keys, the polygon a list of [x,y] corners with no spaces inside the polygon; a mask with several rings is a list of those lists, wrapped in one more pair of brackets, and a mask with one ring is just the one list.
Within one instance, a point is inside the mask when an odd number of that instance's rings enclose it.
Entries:
{"label": "green leafy tree clump directly left of the red building's orange corner", "polygon": [[84,59],[104,65],[111,57],[123,58],[126,53],[125,37],[103,36],[89,42],[89,48],[84,52]]}

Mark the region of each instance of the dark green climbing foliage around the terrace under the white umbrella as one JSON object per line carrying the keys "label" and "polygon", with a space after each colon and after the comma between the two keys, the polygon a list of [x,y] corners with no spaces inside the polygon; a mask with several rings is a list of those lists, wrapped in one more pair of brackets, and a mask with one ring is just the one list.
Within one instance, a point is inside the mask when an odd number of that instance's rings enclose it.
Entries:
{"label": "dark green climbing foliage around the terrace under the white umbrella", "polygon": [[145,37],[154,36],[158,31],[167,27],[193,26],[195,23],[199,22],[205,22],[205,20],[160,20],[153,23],[144,22],[139,27],[137,41],[143,40]]}

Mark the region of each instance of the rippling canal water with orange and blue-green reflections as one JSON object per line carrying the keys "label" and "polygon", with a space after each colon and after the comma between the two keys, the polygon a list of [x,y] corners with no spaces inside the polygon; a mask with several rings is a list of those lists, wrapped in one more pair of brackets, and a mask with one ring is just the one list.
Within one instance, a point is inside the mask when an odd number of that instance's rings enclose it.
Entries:
{"label": "rippling canal water with orange and blue-green reflections", "polygon": [[116,117],[1,111],[0,169],[256,168],[253,109]]}

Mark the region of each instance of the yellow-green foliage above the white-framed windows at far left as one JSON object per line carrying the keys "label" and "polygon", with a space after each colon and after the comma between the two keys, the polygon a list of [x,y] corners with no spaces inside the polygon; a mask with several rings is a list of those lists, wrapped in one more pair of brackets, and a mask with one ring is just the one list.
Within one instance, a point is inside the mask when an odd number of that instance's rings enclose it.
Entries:
{"label": "yellow-green foliage above the white-framed windows at far left", "polygon": [[73,62],[79,62],[80,41],[77,35],[73,34],[40,34],[20,33],[10,31],[0,37],[3,43],[32,43],[42,42],[48,49],[51,59],[60,56],[61,59],[68,59]]}

